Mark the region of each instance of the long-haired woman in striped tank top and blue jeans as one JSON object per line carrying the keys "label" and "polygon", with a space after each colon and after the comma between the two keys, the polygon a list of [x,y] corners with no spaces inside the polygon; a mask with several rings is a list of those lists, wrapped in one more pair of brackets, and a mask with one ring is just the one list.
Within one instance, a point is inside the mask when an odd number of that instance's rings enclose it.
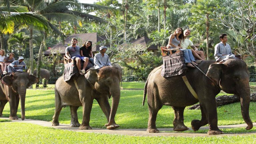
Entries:
{"label": "long-haired woman in striped tank top and blue jeans", "polygon": [[182,28],[177,28],[173,34],[170,35],[169,42],[167,45],[168,49],[179,48],[183,52],[185,63],[187,67],[195,68],[191,63],[195,63],[195,59],[190,49],[182,49],[180,46],[181,41],[184,40],[184,34]]}

